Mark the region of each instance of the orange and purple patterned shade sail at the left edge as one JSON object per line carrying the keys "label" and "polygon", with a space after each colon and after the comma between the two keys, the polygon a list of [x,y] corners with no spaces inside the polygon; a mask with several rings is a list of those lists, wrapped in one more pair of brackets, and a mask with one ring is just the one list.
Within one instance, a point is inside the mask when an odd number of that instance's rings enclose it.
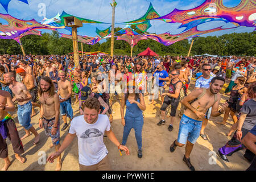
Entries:
{"label": "orange and purple patterned shade sail at the left edge", "polygon": [[54,30],[54,28],[49,28],[36,22],[36,20],[20,20],[16,19],[8,14],[0,14],[0,18],[6,20],[8,24],[0,24],[0,39],[15,39],[18,38],[24,32],[34,30],[34,29],[49,29]]}

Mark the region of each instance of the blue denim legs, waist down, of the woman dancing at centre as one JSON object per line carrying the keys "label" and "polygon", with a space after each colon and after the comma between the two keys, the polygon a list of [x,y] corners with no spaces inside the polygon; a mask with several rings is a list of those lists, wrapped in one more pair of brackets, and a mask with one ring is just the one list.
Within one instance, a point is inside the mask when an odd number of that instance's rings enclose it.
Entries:
{"label": "blue denim legs, waist down, of the woman dancing at centre", "polygon": [[123,127],[123,140],[122,144],[125,145],[127,142],[128,135],[130,134],[131,129],[135,131],[135,138],[137,140],[138,148],[142,148],[142,127],[143,127],[143,116],[132,118],[125,116],[125,126]]}

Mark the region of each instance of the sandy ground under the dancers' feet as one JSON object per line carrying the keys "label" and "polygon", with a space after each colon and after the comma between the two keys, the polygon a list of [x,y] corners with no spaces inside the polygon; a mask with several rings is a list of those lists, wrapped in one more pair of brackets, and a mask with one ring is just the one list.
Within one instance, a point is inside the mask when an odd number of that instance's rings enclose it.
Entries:
{"label": "sandy ground under the dancers' feet", "polygon": [[[193,85],[195,81],[192,81],[191,88],[194,88]],[[223,89],[224,90],[224,89]],[[223,93],[222,90],[222,93]],[[106,137],[104,137],[104,142],[109,151],[109,159],[112,165],[113,170],[121,171],[140,171],[140,170],[189,170],[188,167],[183,163],[183,154],[185,152],[185,147],[177,147],[174,153],[171,153],[169,148],[172,142],[177,138],[179,131],[179,122],[180,118],[176,117],[174,130],[168,131],[168,124],[170,118],[166,118],[167,123],[162,126],[157,126],[156,123],[160,121],[160,100],[154,102],[154,104],[148,104],[148,97],[145,96],[146,102],[146,111],[144,111],[144,126],[142,130],[142,149],[143,149],[143,158],[139,159],[137,156],[137,142],[134,135],[134,130],[131,130],[129,138],[127,140],[126,146],[130,150],[130,155],[125,155],[125,152],[122,152],[123,155],[119,155],[118,148]],[[221,102],[224,102],[228,97],[222,96]],[[74,115],[79,115],[79,105],[72,104]],[[123,126],[121,125],[121,115],[118,102],[115,102],[113,105],[113,118],[112,130],[114,131],[117,139],[122,142],[122,132]],[[32,118],[32,125],[40,133],[40,142],[33,145],[34,135],[22,140],[24,146],[24,154],[22,156],[26,158],[26,162],[21,164],[18,160],[15,159],[13,148],[9,139],[7,139],[9,157],[12,162],[9,167],[10,171],[41,171],[47,170],[51,171],[55,169],[56,163],[46,163],[39,164],[38,160],[40,152],[46,152],[46,155],[51,154],[55,151],[54,148],[49,148],[51,145],[51,138],[46,137],[43,129],[39,128],[38,119],[39,119],[39,108],[36,108],[35,117]],[[209,140],[205,141],[201,137],[197,139],[193,151],[191,153],[191,163],[196,170],[207,170],[207,171],[223,171],[223,170],[245,170],[250,164],[243,159],[244,151],[238,151],[232,156],[228,157],[230,163],[223,162],[218,156],[214,157],[211,151],[217,151],[218,148],[224,146],[224,144],[231,139],[226,137],[225,134],[229,131],[230,127],[233,124],[231,118],[228,119],[228,122],[225,126],[217,125],[217,121],[222,121],[223,114],[217,118],[210,118],[208,125],[205,129],[205,134],[208,135]],[[13,114],[14,121],[16,123],[17,129],[19,131],[19,136],[22,137],[24,129],[18,123],[18,118],[16,114]],[[63,121],[61,120],[60,127],[62,128]],[[61,142],[68,134],[68,129],[65,131],[60,131]],[[79,170],[78,162],[78,146],[77,138],[73,140],[73,143],[65,150],[62,154],[63,156],[63,166],[61,170]],[[216,164],[209,163],[209,161],[216,161]],[[0,160],[0,168],[4,165],[3,159]]]}

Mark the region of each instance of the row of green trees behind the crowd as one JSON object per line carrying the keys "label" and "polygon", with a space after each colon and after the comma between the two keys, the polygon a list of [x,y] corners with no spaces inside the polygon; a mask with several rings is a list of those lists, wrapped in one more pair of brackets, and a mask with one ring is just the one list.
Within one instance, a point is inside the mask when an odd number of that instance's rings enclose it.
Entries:
{"label": "row of green trees behind the crowd", "polygon": [[[131,26],[135,28],[134,25]],[[114,32],[122,28],[115,28]],[[142,33],[136,30],[138,33]],[[209,53],[210,55],[242,55],[242,56],[256,56],[256,34],[250,33],[233,33],[221,36],[207,36],[193,38],[194,43],[191,50],[191,55],[201,55]],[[42,36],[27,35],[21,39],[26,54],[32,55],[66,55],[73,52],[73,43],[71,39],[60,38],[58,32],[52,31],[51,34],[44,33]],[[94,46],[83,44],[84,52],[103,51],[110,53],[111,39],[106,39],[103,43],[97,43]],[[150,47],[152,51],[159,55],[187,55],[190,47],[188,40],[181,40],[171,46],[164,46],[154,40],[141,40],[137,46],[133,48],[133,55],[144,51]],[[79,43],[79,51],[81,51],[81,43]],[[0,54],[17,55],[22,54],[21,48],[15,40],[0,39]],[[131,47],[124,40],[116,40],[114,42],[115,55],[130,55]]]}

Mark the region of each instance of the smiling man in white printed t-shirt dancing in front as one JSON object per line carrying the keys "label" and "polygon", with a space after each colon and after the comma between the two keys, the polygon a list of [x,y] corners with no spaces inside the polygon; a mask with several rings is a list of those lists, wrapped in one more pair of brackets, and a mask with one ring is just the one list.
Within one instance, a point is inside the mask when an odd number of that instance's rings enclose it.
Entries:
{"label": "smiling man in white printed t-shirt dancing in front", "polygon": [[108,116],[100,114],[100,105],[97,98],[88,98],[85,101],[84,115],[72,119],[69,133],[59,151],[49,155],[47,161],[53,163],[53,160],[60,156],[61,152],[77,136],[80,171],[109,171],[111,166],[108,160],[108,150],[103,142],[104,133],[119,150],[124,150],[126,155],[129,155],[128,148],[119,144],[113,131],[110,130]]}

